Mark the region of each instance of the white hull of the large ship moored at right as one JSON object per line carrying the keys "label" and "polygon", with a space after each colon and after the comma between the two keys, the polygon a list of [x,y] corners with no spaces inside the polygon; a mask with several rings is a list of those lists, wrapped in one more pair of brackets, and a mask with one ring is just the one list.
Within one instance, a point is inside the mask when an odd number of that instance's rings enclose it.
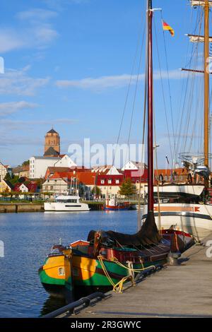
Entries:
{"label": "white hull of the large ship moored at right", "polygon": [[[146,219],[147,206],[144,207],[142,220]],[[212,232],[212,205],[187,203],[161,203],[160,220],[158,204],[154,204],[155,223],[158,229],[175,226],[189,232],[196,239],[202,239]]]}

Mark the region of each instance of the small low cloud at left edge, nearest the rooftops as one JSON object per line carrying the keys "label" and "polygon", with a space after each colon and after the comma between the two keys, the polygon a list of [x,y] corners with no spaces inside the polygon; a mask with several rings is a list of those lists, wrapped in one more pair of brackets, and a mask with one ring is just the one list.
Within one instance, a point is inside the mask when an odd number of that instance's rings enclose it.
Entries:
{"label": "small low cloud at left edge, nearest the rooftops", "polygon": [[26,102],[21,100],[19,102],[1,102],[0,104],[0,117],[7,114],[15,113],[23,109],[33,109],[37,107],[33,102]]}

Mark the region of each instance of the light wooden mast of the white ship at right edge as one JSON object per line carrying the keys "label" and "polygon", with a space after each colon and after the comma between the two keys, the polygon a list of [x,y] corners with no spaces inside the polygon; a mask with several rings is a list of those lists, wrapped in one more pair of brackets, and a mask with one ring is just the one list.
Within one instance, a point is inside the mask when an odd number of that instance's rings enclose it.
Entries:
{"label": "light wooden mast of the white ship at right edge", "polygon": [[208,146],[209,146],[209,3],[205,1],[204,19],[204,163],[208,166]]}

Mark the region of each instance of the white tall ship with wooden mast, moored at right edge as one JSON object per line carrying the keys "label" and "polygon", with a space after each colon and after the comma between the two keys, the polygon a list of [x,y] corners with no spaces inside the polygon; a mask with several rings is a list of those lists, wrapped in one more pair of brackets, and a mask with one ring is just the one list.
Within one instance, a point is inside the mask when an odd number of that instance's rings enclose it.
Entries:
{"label": "white tall ship with wooden mast, moored at right edge", "polygon": [[[172,184],[167,186],[158,186],[161,196],[169,197],[167,203],[159,200],[154,205],[155,222],[160,228],[175,227],[176,230],[189,232],[196,239],[201,240],[208,236],[212,231],[212,188],[209,187],[209,11],[212,7],[212,1],[191,0],[191,5],[196,8],[204,8],[204,36],[188,35],[191,42],[204,42],[204,70],[182,69],[192,73],[204,74],[204,153],[180,153],[179,159],[184,165],[190,167],[194,173],[194,181],[199,176],[204,179],[203,184]],[[155,186],[155,198],[157,188]],[[177,196],[177,199],[172,199]],[[147,206],[143,211],[142,220],[146,220]]]}

